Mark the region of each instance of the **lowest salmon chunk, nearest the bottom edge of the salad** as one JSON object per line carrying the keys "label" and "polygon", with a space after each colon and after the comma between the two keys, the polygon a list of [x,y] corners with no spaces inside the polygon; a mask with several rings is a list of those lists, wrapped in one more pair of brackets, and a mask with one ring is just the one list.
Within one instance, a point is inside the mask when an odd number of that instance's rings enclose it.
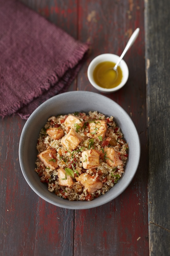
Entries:
{"label": "lowest salmon chunk, nearest the bottom edge of the salad", "polygon": [[88,193],[93,193],[103,186],[100,180],[93,180],[92,176],[88,173],[82,173],[79,177],[76,177],[76,180],[87,189]]}

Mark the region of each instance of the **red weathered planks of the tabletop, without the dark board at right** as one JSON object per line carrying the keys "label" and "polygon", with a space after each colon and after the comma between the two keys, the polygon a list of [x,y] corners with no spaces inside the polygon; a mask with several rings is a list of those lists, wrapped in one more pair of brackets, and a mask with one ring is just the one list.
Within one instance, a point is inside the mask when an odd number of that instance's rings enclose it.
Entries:
{"label": "red weathered planks of the tabletop, without the dark board at right", "polygon": [[129,67],[129,80],[120,91],[106,96],[120,104],[136,125],[141,140],[141,160],[129,187],[112,202],[90,210],[62,209],[38,197],[22,176],[18,144],[25,121],[18,116],[0,120],[0,254],[149,255],[144,2],[22,2],[74,38],[91,43],[89,58],[70,90],[97,92],[87,79],[90,61],[101,53],[120,55],[129,36],[140,27],[136,43],[124,57]]}

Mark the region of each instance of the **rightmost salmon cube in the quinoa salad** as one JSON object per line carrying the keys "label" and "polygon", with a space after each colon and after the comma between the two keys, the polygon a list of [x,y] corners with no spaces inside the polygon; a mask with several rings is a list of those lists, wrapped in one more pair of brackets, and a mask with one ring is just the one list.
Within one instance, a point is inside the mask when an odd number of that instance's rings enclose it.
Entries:
{"label": "rightmost salmon cube in the quinoa salad", "polygon": [[106,163],[111,167],[122,165],[122,160],[119,159],[116,151],[113,148],[104,148]]}

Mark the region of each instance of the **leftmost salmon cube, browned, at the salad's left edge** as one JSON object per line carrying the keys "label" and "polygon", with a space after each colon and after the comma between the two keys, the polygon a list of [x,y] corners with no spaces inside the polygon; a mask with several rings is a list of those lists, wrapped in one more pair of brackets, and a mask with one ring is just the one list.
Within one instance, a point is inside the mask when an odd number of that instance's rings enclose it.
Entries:
{"label": "leftmost salmon cube, browned, at the salad's left edge", "polygon": [[37,155],[37,157],[40,159],[40,161],[44,164],[45,167],[49,167],[52,170],[57,169],[58,163],[55,158],[55,154],[57,151],[55,149],[47,149],[40,154]]}

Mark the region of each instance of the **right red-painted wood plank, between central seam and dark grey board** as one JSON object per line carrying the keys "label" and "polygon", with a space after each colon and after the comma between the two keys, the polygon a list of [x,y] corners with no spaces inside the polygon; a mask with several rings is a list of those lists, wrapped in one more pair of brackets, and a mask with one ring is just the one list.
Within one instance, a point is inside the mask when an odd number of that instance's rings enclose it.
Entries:
{"label": "right red-painted wood plank, between central seam and dark grey board", "polygon": [[[106,94],[131,116],[141,140],[141,160],[129,187],[101,207],[75,211],[74,255],[148,255],[146,85],[144,3],[80,1],[78,35],[91,43],[91,55],[78,75],[78,89],[97,92],[88,81],[90,61],[102,53],[121,55],[129,36],[140,28],[136,43],[124,57],[129,80],[118,92]],[[99,92],[98,92],[99,93]]]}

